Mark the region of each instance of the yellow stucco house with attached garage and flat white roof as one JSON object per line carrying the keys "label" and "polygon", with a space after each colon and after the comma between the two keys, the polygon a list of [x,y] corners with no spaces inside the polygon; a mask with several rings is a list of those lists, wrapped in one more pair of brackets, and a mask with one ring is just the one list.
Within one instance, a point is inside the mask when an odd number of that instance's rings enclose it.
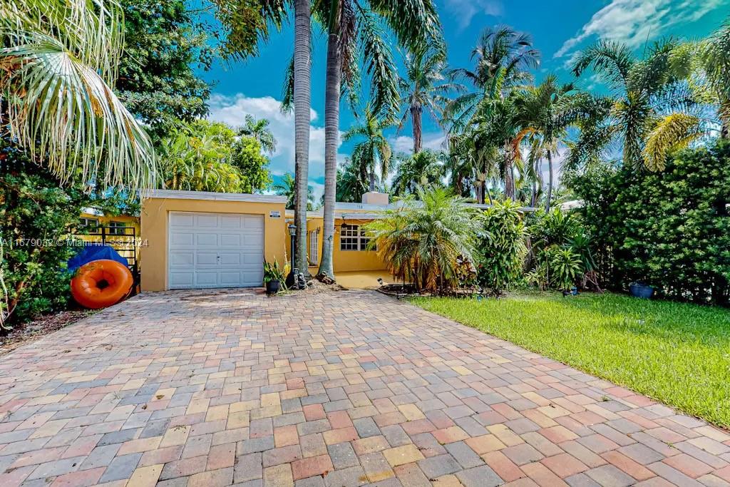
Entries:
{"label": "yellow stucco house with attached garage and flat white roof", "polygon": [[[204,191],[150,191],[142,200],[142,291],[258,287],[263,262],[291,258],[293,212],[283,196]],[[390,274],[367,250],[361,226],[380,218],[388,195],[366,193],[361,204],[335,208],[334,272],[345,287],[377,285]],[[315,273],[322,252],[323,215],[307,213],[307,256]]]}

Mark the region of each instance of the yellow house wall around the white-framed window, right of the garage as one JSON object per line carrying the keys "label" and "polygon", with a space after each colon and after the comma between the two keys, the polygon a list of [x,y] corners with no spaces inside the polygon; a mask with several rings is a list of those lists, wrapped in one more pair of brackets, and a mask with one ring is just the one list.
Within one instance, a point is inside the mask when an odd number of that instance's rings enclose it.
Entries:
{"label": "yellow house wall around the white-framed window, right of the garage", "polygon": [[[354,212],[356,211],[348,211],[348,213]],[[370,212],[372,213],[372,211]],[[383,263],[380,257],[377,256],[377,252],[373,250],[340,250],[339,236],[342,223],[346,223],[347,225],[365,225],[366,223],[369,223],[369,221],[352,219],[343,221],[342,218],[335,218],[334,246],[332,249],[332,266],[334,267],[334,274],[337,276],[337,272],[376,271],[387,269],[388,267]],[[320,256],[320,261],[322,258],[322,247],[324,242],[323,224],[324,221],[322,217],[310,217],[307,219],[307,249],[309,249],[310,245],[309,232],[320,229],[318,239],[318,256]],[[285,235],[288,242],[288,229],[285,229]],[[317,265],[319,265],[319,262]]]}

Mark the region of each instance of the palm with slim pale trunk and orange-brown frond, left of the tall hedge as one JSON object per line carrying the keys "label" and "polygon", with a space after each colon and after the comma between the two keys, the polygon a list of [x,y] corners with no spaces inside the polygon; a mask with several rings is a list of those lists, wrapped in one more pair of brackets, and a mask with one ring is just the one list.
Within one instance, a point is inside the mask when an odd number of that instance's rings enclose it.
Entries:
{"label": "palm with slim pale trunk and orange-brown frond, left of the tall hedge", "polygon": [[[548,196],[545,210],[550,211],[553,201],[553,156],[558,151],[558,141],[566,135],[568,126],[578,118],[581,97],[572,84],[559,85],[558,78],[549,74],[537,86],[523,88],[515,99],[518,119],[522,129],[515,139],[518,146],[524,137],[532,136],[530,144],[534,176],[541,180],[542,155],[548,159]],[[542,188],[542,181],[540,181]],[[531,204],[535,204],[534,197]]]}

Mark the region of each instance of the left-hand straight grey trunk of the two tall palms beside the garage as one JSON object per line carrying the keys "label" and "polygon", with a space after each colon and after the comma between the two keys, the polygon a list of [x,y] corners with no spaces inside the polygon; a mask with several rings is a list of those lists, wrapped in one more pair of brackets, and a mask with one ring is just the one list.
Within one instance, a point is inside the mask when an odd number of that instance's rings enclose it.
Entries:
{"label": "left-hand straight grey trunk of the two tall palms beside the garage", "polygon": [[296,259],[294,266],[308,275],[307,266],[307,191],[310,167],[310,110],[312,73],[310,64],[310,0],[294,3],[294,224]]}

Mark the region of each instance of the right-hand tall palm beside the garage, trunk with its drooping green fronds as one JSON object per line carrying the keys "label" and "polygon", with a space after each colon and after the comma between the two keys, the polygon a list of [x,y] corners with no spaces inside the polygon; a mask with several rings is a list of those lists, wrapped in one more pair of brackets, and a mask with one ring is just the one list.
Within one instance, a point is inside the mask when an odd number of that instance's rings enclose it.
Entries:
{"label": "right-hand tall palm beside the garage, trunk with its drooping green fronds", "polygon": [[440,39],[433,0],[323,0],[315,3],[315,15],[328,34],[325,85],[325,192],[324,238],[318,275],[334,279],[332,242],[334,204],[337,194],[337,146],[342,84],[354,101],[360,74],[357,53],[362,53],[371,77],[372,110],[392,118],[398,110],[398,71],[383,26],[395,34],[399,45],[413,48],[424,39]]}

